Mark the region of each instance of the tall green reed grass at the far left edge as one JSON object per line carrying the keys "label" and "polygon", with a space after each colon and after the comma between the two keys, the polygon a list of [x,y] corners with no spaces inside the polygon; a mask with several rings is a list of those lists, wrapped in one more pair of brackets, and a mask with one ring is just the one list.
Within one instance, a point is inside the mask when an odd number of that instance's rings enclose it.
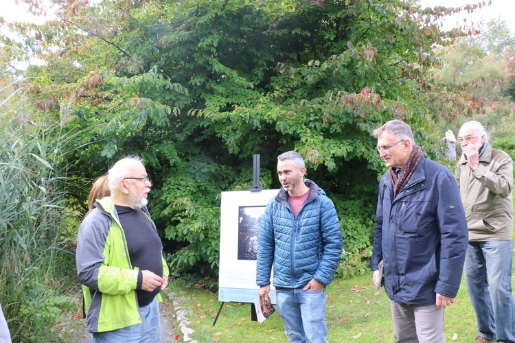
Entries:
{"label": "tall green reed grass at the far left edge", "polygon": [[27,112],[14,83],[0,88],[0,303],[13,342],[50,342],[73,276],[60,239],[67,137],[47,113]]}

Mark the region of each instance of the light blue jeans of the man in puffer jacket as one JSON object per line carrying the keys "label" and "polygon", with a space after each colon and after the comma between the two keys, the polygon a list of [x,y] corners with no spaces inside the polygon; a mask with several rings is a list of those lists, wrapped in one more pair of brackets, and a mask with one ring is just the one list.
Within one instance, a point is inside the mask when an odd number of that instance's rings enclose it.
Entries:
{"label": "light blue jeans of the man in puffer jacket", "polygon": [[313,292],[302,288],[275,288],[277,313],[284,324],[284,333],[290,342],[323,342],[328,328],[325,326],[325,288]]}

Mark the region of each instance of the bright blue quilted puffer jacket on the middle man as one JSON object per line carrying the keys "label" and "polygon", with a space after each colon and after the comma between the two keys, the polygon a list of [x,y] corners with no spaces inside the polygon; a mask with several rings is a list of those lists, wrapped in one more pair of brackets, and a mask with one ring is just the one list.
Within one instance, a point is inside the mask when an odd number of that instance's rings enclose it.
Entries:
{"label": "bright blue quilted puffer jacket on the middle man", "polygon": [[304,287],[311,279],[331,283],[338,268],[341,251],[341,227],[332,201],[312,180],[297,218],[293,215],[288,193],[280,189],[268,202],[258,238],[256,283],[270,285],[273,265],[275,287]]}

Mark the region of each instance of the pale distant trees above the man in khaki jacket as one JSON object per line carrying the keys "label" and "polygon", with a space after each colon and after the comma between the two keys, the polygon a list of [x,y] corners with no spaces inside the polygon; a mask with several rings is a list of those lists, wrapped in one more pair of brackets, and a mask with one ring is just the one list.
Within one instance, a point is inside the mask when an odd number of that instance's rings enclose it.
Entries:
{"label": "pale distant trees above the man in khaki jacket", "polygon": [[[488,128],[494,141],[512,136],[515,107],[510,98],[511,44],[505,23],[492,21],[478,36],[461,38],[439,49],[442,68],[435,69],[435,77],[450,86],[468,90],[470,94],[469,108],[456,108],[457,120],[444,125],[457,132],[462,123],[475,119]],[[494,49],[495,46],[499,48]],[[484,106],[479,108],[477,104]]]}

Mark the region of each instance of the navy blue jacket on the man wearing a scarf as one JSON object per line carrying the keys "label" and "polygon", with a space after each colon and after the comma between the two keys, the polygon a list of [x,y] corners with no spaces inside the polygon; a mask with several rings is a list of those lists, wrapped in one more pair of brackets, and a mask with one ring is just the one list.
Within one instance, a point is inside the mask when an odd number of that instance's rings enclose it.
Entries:
{"label": "navy blue jacket on the man wearing a scarf", "polygon": [[385,290],[395,303],[431,305],[454,298],[468,244],[464,208],[450,171],[422,158],[395,198],[389,174],[379,182],[371,269],[385,261]]}

